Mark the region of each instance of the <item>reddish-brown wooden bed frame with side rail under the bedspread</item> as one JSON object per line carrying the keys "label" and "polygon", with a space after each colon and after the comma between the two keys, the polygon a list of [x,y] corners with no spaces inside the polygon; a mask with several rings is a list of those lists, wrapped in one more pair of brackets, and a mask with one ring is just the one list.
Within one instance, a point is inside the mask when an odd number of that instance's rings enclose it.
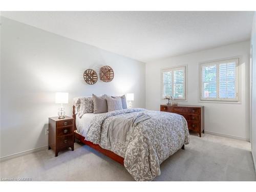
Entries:
{"label": "reddish-brown wooden bed frame with side rail under the bedspread", "polygon": [[[108,156],[109,158],[113,159],[114,161],[120,163],[121,165],[123,165],[123,158],[117,154],[115,154],[114,152],[111,152],[109,150],[105,150],[104,148],[101,148],[101,146],[99,146],[98,144],[94,144],[91,141],[87,141],[85,137],[83,137],[82,135],[80,135],[79,133],[76,132],[76,115],[75,115],[75,106],[73,106],[73,118],[74,118],[74,130],[75,130],[75,141],[79,140],[80,142],[82,142],[83,144],[86,144],[92,148],[94,148],[96,151],[104,154],[105,156]],[[182,150],[185,149],[184,144],[182,145]]]}

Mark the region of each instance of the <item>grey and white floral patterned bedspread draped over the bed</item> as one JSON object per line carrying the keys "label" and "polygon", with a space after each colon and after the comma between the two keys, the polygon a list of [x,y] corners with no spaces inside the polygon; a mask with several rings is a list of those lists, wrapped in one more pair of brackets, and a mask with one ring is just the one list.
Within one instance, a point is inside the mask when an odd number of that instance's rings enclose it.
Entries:
{"label": "grey and white floral patterned bedspread draped over the bed", "polygon": [[[112,143],[108,142],[108,125],[113,119],[142,111],[151,118],[131,129],[125,141],[112,138]],[[135,108],[98,114],[91,121],[86,140],[123,157],[125,168],[136,181],[151,181],[161,174],[160,164],[189,143],[189,132],[181,115]]]}

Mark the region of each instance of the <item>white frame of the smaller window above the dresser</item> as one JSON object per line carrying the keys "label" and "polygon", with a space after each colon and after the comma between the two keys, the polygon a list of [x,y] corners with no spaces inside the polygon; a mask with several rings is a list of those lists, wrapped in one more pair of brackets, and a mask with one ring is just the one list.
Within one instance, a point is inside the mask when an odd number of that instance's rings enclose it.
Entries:
{"label": "white frame of the smaller window above the dresser", "polygon": [[[176,67],[168,67],[168,68],[161,68],[160,69],[160,86],[161,86],[161,93],[160,93],[160,98],[161,100],[164,100],[163,97],[163,72],[164,71],[174,71],[175,70],[179,70],[179,69],[183,69],[185,68],[185,72],[184,72],[184,97],[183,98],[174,98],[174,101],[187,101],[187,66],[176,66]],[[172,78],[174,79],[174,75],[172,75]],[[174,82],[174,80],[172,79],[172,82]],[[174,87],[173,87],[174,88]],[[173,91],[173,90],[172,90]],[[173,96],[173,95],[172,95]]]}

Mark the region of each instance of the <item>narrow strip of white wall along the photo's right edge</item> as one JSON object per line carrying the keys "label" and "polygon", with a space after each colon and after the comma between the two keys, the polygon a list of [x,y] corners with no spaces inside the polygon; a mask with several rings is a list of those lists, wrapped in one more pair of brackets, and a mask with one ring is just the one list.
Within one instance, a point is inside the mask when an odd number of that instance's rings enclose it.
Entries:
{"label": "narrow strip of white wall along the photo's right edge", "polygon": [[251,47],[252,47],[252,89],[251,89],[251,153],[256,170],[256,12],[251,32]]}

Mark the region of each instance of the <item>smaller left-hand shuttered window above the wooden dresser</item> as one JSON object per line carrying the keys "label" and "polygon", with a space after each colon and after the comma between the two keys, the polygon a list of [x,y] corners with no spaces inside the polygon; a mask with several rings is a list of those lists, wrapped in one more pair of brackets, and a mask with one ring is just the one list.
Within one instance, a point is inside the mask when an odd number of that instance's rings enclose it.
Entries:
{"label": "smaller left-hand shuttered window above the wooden dresser", "polygon": [[186,67],[161,70],[161,97],[172,95],[173,99],[186,100]]}

